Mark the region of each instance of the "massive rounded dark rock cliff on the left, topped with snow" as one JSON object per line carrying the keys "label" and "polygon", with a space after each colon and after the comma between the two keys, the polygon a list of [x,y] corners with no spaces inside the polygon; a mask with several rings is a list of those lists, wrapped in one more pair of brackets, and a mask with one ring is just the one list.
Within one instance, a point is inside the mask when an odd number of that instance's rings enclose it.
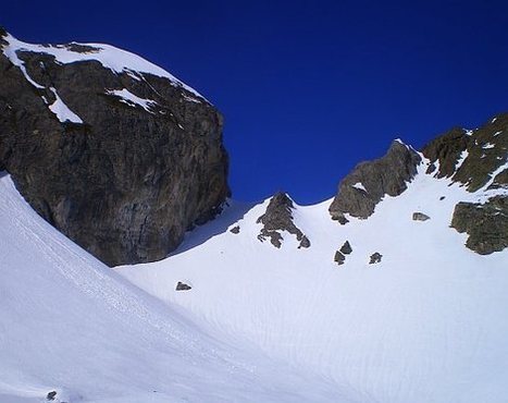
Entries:
{"label": "massive rounded dark rock cliff on the left, topped with snow", "polygon": [[[149,73],[17,57],[41,88],[0,53],[0,170],[61,232],[110,266],[152,261],[220,211],[228,162],[223,119],[208,101]],[[111,93],[122,89],[153,102]],[[83,123],[57,118],[57,94]]]}

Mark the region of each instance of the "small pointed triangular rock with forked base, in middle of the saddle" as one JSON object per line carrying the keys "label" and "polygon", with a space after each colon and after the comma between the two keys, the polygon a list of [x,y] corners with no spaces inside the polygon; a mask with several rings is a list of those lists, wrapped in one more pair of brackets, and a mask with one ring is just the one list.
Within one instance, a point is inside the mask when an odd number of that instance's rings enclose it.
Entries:
{"label": "small pointed triangular rock with forked base, in middle of the saddle", "polygon": [[278,231],[287,231],[300,241],[298,248],[310,247],[309,239],[293,222],[292,210],[295,208],[293,202],[285,193],[273,196],[267,207],[267,212],[258,218],[257,223],[262,223],[258,239],[263,242],[267,237],[275,247],[282,246],[282,235]]}

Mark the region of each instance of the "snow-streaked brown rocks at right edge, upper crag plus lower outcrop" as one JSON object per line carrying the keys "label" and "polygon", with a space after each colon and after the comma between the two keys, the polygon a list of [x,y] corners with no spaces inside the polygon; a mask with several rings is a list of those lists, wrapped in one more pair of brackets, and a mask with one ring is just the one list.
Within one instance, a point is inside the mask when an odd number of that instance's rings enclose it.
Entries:
{"label": "snow-streaked brown rocks at right edge, upper crag plus lower outcrop", "polygon": [[423,154],[434,164],[434,175],[486,198],[455,207],[450,225],[469,235],[466,246],[482,255],[508,247],[508,113],[474,131],[454,129],[429,143]]}

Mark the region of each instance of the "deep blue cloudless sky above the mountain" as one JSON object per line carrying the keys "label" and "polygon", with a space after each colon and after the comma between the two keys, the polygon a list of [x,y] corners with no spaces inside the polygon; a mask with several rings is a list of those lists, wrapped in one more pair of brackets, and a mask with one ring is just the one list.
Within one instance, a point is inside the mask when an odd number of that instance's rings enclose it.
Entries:
{"label": "deep blue cloudless sky above the mountain", "polygon": [[134,51],[225,115],[234,197],[331,197],[395,137],[414,147],[508,111],[507,1],[11,1],[35,42]]}

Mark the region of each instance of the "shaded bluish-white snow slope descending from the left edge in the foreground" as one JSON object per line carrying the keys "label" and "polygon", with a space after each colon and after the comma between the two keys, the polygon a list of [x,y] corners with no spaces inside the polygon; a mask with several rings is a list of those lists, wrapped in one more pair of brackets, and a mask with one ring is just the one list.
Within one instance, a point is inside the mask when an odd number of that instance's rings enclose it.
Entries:
{"label": "shaded bluish-white snow slope descending from the left edge in the foreground", "polygon": [[0,402],[349,401],[219,342],[44,221],[0,173]]}

